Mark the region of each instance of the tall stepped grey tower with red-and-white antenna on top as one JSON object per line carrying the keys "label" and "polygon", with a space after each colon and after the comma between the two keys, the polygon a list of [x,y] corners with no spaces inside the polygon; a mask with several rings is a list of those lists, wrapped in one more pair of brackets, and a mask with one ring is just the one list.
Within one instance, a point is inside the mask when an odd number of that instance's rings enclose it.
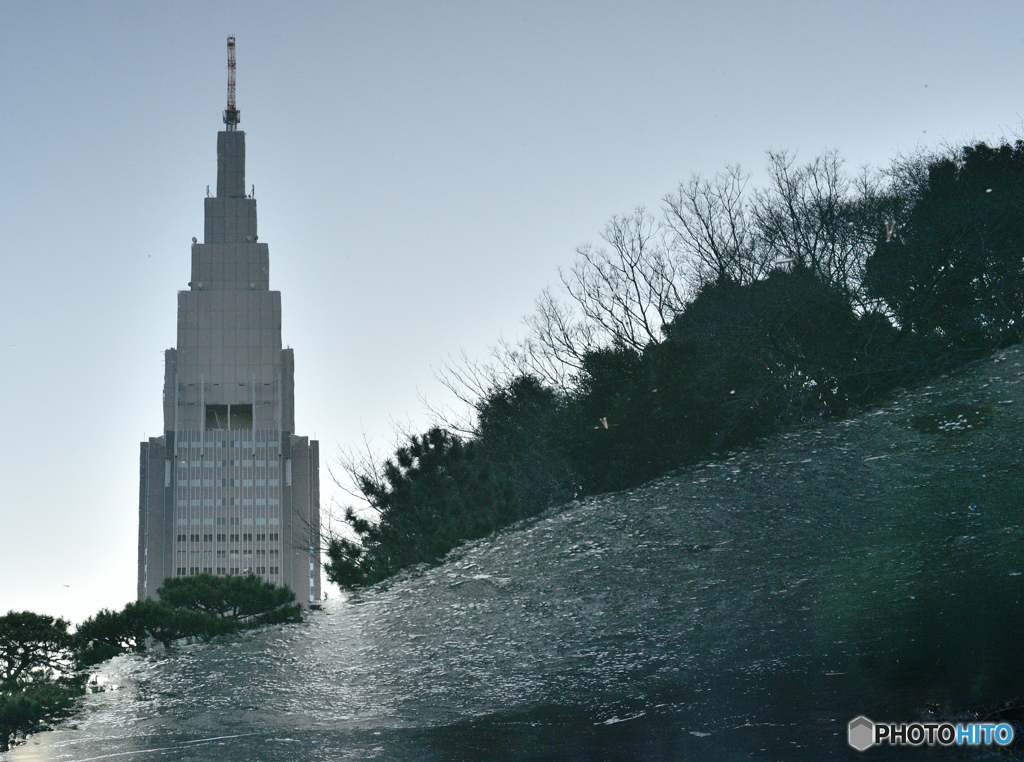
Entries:
{"label": "tall stepped grey tower with red-and-white antenna on top", "polygon": [[164,355],[164,435],[141,443],[138,597],[168,577],[254,574],[308,604],[321,597],[319,443],[294,433],[294,355],[246,195],[233,53],[228,38],[217,195]]}

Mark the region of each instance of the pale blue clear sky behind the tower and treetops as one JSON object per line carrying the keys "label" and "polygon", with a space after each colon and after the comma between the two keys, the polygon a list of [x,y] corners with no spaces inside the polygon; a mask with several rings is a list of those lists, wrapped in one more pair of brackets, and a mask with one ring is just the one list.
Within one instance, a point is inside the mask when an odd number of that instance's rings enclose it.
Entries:
{"label": "pale blue clear sky behind the tower and treetops", "polygon": [[[248,182],[325,460],[443,404],[690,172],[1021,131],[1019,2],[0,2],[0,612],[134,595],[138,442],[216,181]],[[327,464],[323,464],[326,466]],[[324,493],[331,494],[324,467]],[[69,587],[65,587],[65,586]]]}

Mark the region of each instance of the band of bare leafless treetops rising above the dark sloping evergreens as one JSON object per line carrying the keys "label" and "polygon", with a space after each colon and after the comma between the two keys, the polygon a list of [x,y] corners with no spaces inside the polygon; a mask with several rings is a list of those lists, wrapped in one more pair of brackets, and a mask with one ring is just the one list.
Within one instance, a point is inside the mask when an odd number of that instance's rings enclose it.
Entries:
{"label": "band of bare leafless treetops rising above the dark sloping evergreens", "polygon": [[792,264],[860,294],[883,224],[879,177],[851,178],[837,152],[803,166],[770,152],[768,177],[751,193],[737,166],[712,179],[694,174],[665,198],[658,217],[642,207],[612,217],[604,246],[579,247],[571,267],[559,270],[562,293],[541,294],[521,338],[499,341],[485,361],[463,354],[442,366],[438,379],[469,410],[442,417],[445,424],[471,432],[474,405],[517,376],[568,389],[588,352],[615,342],[642,351],[709,283],[749,284]]}

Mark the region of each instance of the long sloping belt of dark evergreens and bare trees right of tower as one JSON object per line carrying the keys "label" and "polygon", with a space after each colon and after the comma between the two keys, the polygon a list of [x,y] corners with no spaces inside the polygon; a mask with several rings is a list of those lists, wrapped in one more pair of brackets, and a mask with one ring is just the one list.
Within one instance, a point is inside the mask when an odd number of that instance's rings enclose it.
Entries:
{"label": "long sloping belt of dark evergreens and bare trees right of tower", "polygon": [[1024,142],[848,174],[836,153],[693,176],[580,247],[526,335],[442,380],[473,415],[352,469],[342,587],[574,496],[834,418],[1021,341]]}

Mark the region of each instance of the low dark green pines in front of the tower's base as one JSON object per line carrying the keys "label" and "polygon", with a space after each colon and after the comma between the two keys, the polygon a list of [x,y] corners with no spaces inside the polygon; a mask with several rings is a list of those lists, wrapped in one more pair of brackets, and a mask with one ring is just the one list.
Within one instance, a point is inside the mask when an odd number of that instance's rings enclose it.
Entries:
{"label": "low dark green pines in front of the tower's base", "polygon": [[147,643],[170,647],[302,619],[290,589],[252,576],[172,578],[158,592],[160,600],[102,609],[74,631],[66,620],[32,611],[0,617],[0,752],[67,716],[93,665]]}

